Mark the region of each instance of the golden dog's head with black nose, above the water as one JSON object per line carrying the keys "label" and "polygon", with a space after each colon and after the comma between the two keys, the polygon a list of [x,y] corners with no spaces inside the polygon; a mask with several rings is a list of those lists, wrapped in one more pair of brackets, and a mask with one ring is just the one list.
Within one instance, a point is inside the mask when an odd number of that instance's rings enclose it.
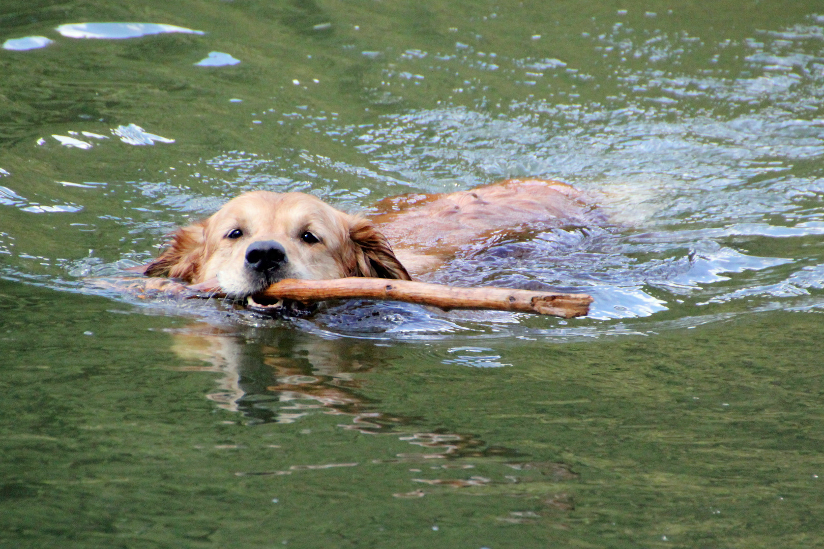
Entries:
{"label": "golden dog's head with black nose, above the water", "polygon": [[146,274],[198,283],[218,278],[232,297],[283,278],[410,280],[386,238],[358,216],[304,193],[245,193],[176,232]]}

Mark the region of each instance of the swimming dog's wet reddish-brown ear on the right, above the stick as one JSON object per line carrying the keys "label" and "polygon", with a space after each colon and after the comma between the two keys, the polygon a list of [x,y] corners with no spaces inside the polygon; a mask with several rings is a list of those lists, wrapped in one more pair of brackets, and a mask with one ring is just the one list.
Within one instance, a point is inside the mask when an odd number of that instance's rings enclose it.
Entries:
{"label": "swimming dog's wet reddish-brown ear on the right, above the stick", "polygon": [[410,273],[398,261],[392,248],[372,221],[354,219],[349,226],[349,238],[355,246],[355,264],[349,277],[394,278],[412,280]]}

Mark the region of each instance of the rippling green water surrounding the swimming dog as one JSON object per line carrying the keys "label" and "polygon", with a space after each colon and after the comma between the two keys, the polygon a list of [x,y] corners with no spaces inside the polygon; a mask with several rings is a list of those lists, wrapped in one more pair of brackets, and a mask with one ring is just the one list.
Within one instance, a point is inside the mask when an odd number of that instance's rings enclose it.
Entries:
{"label": "rippling green water surrounding the swimming dog", "polygon": [[[206,34],[54,30],[84,21]],[[0,49],[0,547],[824,547],[818,2],[2,3],[32,35]],[[95,282],[243,190],[509,176],[611,221],[431,279],[591,318]]]}

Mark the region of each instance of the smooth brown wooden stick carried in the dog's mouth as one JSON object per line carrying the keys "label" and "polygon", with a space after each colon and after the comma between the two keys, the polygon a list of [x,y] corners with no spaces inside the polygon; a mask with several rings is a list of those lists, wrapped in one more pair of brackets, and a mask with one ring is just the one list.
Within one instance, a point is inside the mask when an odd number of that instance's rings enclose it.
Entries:
{"label": "smooth brown wooden stick carried in the dog's mouth", "polygon": [[[197,289],[204,290],[202,285]],[[586,316],[592,296],[556,294],[507,288],[456,288],[426,282],[386,278],[348,277],[331,280],[296,280],[275,282],[258,295],[269,299],[288,299],[311,303],[340,298],[365,298],[405,301],[434,305],[441,309],[494,309],[521,313],[551,314],[564,319]]]}

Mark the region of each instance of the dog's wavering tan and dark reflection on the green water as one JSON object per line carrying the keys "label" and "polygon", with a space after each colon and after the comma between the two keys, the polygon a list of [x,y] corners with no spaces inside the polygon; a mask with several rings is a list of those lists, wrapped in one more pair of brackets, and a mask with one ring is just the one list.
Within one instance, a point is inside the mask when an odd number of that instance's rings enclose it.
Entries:
{"label": "dog's wavering tan and dark reflection on the green water", "polygon": [[321,412],[351,418],[340,425],[344,429],[396,433],[401,440],[429,449],[399,454],[400,459],[508,454],[471,435],[410,434],[405,426],[414,418],[377,410],[375,403],[358,394],[361,384],[353,376],[381,364],[371,343],[300,336],[291,330],[283,338],[275,330],[258,330],[255,335],[264,341],[249,342],[236,331],[202,323],[176,332],[173,350],[185,360],[206,362],[181,370],[217,373],[218,390],[207,398],[243,414],[246,421],[293,423]]}

